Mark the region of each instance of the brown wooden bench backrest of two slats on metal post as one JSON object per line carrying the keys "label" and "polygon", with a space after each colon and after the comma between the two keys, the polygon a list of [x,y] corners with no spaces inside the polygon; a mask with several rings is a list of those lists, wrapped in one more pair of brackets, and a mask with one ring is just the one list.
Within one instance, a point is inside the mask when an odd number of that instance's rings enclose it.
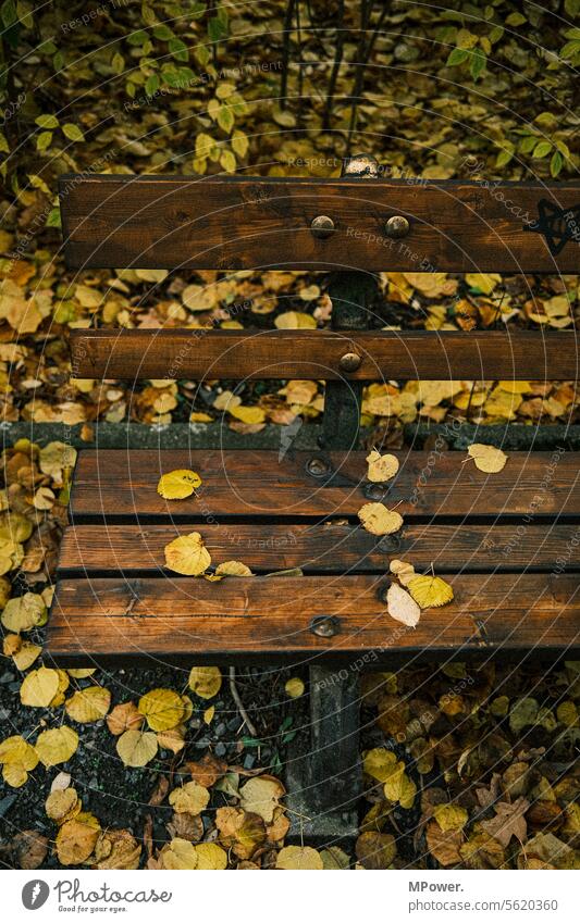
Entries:
{"label": "brown wooden bench backrest of two slats on metal post", "polygon": [[573,330],[363,328],[377,271],[578,272],[580,184],[390,179],[366,155],[343,174],[61,177],[72,267],[335,273],[334,329],[78,329],[74,375],[578,379]]}

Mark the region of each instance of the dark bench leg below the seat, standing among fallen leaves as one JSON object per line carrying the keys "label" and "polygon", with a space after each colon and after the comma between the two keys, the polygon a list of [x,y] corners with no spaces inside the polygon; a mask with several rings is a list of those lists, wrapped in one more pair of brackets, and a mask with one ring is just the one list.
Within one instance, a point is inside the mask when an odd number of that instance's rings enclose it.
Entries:
{"label": "dark bench leg below the seat, standing among fallen leaves", "polygon": [[286,770],[293,840],[357,836],[359,704],[357,673],[310,668],[310,733],[296,738]]}

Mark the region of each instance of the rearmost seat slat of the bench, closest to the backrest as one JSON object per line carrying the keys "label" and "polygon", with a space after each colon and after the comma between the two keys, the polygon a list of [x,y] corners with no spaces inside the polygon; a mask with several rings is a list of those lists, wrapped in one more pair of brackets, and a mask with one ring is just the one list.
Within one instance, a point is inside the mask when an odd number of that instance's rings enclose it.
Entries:
{"label": "rearmost seat slat of the bench, closest to the backrest", "polygon": [[[482,427],[481,440],[484,440]],[[478,471],[462,452],[394,452],[399,472],[384,502],[402,515],[578,516],[580,465],[575,452],[509,452],[497,474]],[[71,514],[87,517],[166,517],[211,525],[224,516],[355,516],[368,499],[366,452],[328,457],[334,482],[314,477],[307,463],[320,452],[182,449],[100,449],[79,453]],[[161,474],[193,469],[202,478],[197,496],[164,500],[157,492]],[[328,486],[325,486],[328,485]],[[377,485],[374,485],[377,489]],[[374,494],[374,491],[373,491]],[[201,529],[202,531],[202,529]]]}

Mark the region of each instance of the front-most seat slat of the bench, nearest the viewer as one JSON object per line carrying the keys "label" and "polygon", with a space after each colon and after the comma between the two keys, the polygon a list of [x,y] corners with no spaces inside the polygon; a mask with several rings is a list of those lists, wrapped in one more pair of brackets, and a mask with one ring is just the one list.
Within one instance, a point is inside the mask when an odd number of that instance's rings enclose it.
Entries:
{"label": "front-most seat slat of the bench, nearest the viewer", "polygon": [[[415,657],[569,651],[578,646],[577,576],[449,577],[455,599],[425,610],[417,628],[391,619],[370,576],[63,581],[48,629],[57,663],[155,658],[183,664],[357,658],[368,663]],[[310,629],[338,619],[337,634]],[[362,665],[362,664],[361,664]]]}

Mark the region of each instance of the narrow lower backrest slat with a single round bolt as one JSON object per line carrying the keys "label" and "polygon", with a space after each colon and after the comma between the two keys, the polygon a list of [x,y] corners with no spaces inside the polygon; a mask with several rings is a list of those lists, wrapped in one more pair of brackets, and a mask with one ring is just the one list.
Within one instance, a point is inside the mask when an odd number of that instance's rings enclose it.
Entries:
{"label": "narrow lower backrest slat with a single round bolt", "polygon": [[[341,358],[361,358],[354,372]],[[546,379],[580,377],[578,335],[552,330],[74,330],[85,378]]]}

